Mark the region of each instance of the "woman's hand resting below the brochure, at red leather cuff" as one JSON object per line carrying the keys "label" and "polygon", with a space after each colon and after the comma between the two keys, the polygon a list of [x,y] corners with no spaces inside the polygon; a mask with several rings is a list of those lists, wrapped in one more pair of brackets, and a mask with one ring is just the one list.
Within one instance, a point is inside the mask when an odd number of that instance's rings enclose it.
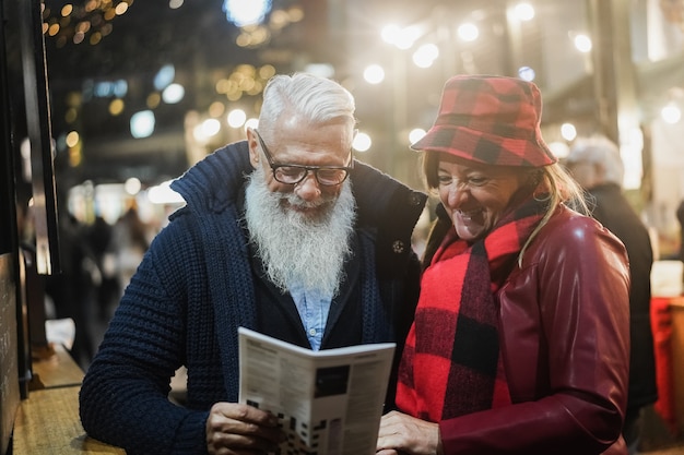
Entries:
{"label": "woman's hand resting below the brochure, at red leather cuff", "polygon": [[377,455],[441,455],[439,424],[391,411],[382,416]]}

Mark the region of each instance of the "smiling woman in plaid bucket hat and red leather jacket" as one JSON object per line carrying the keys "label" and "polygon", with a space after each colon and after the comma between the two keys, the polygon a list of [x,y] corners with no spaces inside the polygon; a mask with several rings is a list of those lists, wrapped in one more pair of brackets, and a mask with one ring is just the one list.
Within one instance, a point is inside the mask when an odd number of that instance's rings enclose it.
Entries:
{"label": "smiling woman in plaid bucket hat and red leather jacket", "polygon": [[379,454],[627,453],[626,252],[540,119],[534,84],[456,76],[413,145],[440,204]]}

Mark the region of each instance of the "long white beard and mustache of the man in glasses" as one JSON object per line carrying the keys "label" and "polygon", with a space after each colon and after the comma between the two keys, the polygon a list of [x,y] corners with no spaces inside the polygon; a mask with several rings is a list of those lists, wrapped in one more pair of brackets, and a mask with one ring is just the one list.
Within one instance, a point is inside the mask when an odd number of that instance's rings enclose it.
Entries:
{"label": "long white beard and mustache of the man in glasses", "polygon": [[[300,213],[290,206],[317,211]],[[350,240],[356,219],[349,180],[339,195],[323,194],[317,202],[307,202],[294,192],[269,190],[266,171],[258,167],[248,177],[245,208],[249,239],[268,278],[281,291],[303,286],[307,292],[337,296],[344,261],[352,254]]]}

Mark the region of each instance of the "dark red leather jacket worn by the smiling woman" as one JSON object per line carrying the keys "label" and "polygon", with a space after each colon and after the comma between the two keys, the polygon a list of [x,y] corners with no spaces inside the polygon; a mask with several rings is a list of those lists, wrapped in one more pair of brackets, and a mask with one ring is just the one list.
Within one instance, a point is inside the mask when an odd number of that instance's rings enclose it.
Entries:
{"label": "dark red leather jacket worn by the smiling woman", "polygon": [[445,455],[627,454],[628,289],[621,241],[558,208],[497,294],[514,405],[441,421]]}

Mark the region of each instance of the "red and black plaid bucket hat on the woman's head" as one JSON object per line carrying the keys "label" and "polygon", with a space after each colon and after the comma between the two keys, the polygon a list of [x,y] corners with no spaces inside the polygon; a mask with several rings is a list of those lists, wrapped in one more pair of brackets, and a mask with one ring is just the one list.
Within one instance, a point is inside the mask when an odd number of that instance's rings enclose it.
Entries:
{"label": "red and black plaid bucket hat on the woman's head", "polygon": [[540,130],[542,96],[531,82],[494,75],[458,75],[445,84],[439,115],[415,151],[446,152],[488,165],[554,164]]}

